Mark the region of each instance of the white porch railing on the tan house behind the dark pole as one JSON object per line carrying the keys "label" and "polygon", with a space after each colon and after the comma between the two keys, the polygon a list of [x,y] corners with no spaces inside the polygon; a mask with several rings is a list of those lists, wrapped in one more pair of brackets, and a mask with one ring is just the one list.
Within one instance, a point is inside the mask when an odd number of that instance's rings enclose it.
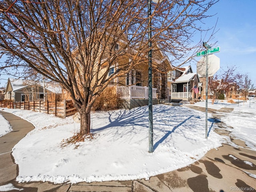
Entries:
{"label": "white porch railing on the tan house behind the dark pole", "polygon": [[[152,88],[152,98],[156,99],[156,88]],[[148,99],[148,87],[118,86],[117,94],[122,99]]]}

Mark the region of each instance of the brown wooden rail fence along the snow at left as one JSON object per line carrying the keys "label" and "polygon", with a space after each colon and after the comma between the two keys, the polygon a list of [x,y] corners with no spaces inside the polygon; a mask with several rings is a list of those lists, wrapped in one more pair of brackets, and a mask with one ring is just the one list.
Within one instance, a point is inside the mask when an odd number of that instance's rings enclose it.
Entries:
{"label": "brown wooden rail fence along the snow at left", "polygon": [[77,112],[72,100],[64,101],[26,101],[26,102],[5,102],[0,101],[2,108],[26,109],[66,118]]}

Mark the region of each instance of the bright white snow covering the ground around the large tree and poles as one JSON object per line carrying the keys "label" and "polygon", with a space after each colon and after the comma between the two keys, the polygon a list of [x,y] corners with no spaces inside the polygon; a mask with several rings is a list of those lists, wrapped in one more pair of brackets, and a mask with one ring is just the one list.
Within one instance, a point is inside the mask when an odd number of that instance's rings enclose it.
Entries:
{"label": "bright white snow covering the ground around the large tree and poles", "polygon": [[[205,106],[205,102],[195,105]],[[234,127],[231,130],[233,134],[256,150],[255,100],[250,108],[249,102],[239,107],[226,102],[211,106],[209,102],[208,107],[234,108],[222,121]],[[61,147],[63,139],[79,130],[80,125],[74,123],[72,117],[61,119],[28,110],[4,110],[35,126],[12,149],[19,165],[16,178],[19,182],[77,183],[149,178],[187,166],[229,139],[213,131],[215,124],[208,124],[210,133],[205,139],[204,112],[187,107],[155,105],[153,153],[148,153],[147,106],[92,113],[92,132],[97,134],[95,139]],[[245,117],[239,115],[244,113]]]}

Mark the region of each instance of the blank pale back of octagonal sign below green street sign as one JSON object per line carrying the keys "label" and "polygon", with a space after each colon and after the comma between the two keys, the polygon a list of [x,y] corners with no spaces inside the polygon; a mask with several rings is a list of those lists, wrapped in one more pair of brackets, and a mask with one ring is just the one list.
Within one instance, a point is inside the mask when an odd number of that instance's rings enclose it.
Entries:
{"label": "blank pale back of octagonal sign below green street sign", "polygon": [[[213,76],[220,69],[220,58],[214,54],[208,55],[208,76]],[[206,56],[202,58],[196,64],[196,71],[200,77],[206,77]]]}

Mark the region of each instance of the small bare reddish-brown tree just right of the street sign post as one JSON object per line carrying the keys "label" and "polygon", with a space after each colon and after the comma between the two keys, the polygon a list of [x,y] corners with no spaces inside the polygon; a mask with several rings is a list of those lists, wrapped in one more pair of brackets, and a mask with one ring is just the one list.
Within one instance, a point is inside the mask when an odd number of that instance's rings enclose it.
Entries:
{"label": "small bare reddish-brown tree just right of the street sign post", "polygon": [[226,94],[226,97],[230,97],[232,92],[238,88],[238,82],[242,77],[241,74],[236,72],[236,67],[227,67],[223,69],[222,73],[214,75],[209,81],[209,89],[213,94],[212,104],[220,94]]}

